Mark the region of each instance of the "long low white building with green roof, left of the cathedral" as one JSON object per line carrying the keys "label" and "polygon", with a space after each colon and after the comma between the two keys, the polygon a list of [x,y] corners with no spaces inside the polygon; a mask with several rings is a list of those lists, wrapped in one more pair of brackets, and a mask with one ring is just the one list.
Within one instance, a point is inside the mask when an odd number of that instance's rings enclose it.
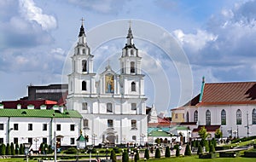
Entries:
{"label": "long low white building with green roof, left of the cathedral", "polygon": [[76,146],[80,135],[82,116],[74,110],[63,107],[46,109],[4,109],[0,105],[0,143],[32,143],[32,150],[38,151],[42,142],[58,147]]}

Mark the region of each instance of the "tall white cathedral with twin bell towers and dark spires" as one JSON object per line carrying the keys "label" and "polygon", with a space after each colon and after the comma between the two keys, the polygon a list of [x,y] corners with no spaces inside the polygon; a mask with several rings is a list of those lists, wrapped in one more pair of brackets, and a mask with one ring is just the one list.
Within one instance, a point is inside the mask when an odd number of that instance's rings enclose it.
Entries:
{"label": "tall white cathedral with twin bell towers and dark spires", "polygon": [[148,121],[142,57],[133,43],[131,26],[119,58],[120,73],[108,65],[96,80],[93,57],[84,25],[72,56],[73,71],[68,75],[67,109],[83,116],[81,130],[88,145],[143,144],[147,142]]}

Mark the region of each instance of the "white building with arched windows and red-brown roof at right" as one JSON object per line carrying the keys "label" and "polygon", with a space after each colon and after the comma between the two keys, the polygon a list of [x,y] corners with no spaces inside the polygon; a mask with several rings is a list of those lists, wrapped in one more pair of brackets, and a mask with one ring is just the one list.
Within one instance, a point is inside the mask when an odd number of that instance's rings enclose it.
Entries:
{"label": "white building with arched windows and red-brown roof at right", "polygon": [[219,128],[224,137],[256,135],[256,82],[205,84],[203,78],[197,101],[184,107],[186,122]]}

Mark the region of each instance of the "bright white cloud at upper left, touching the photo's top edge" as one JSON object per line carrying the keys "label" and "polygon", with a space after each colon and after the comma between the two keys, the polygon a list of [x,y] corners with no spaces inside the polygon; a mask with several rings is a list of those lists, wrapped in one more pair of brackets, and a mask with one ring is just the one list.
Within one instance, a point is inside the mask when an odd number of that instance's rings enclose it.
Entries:
{"label": "bright white cloud at upper left, touching the photo's top edge", "polygon": [[55,29],[57,26],[55,17],[48,14],[43,14],[41,8],[38,8],[33,0],[20,0],[20,14],[26,20],[35,20],[42,26],[43,30]]}

